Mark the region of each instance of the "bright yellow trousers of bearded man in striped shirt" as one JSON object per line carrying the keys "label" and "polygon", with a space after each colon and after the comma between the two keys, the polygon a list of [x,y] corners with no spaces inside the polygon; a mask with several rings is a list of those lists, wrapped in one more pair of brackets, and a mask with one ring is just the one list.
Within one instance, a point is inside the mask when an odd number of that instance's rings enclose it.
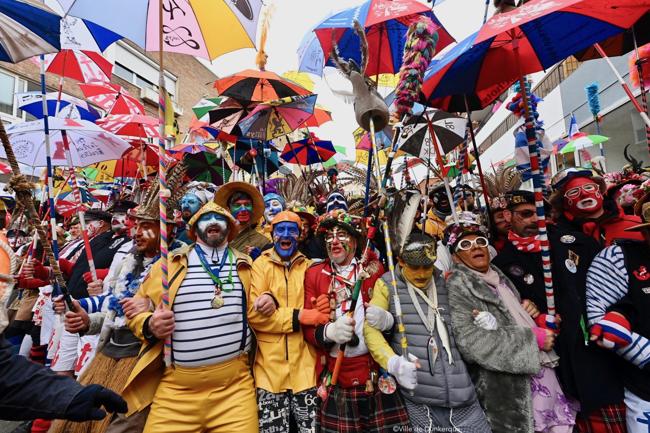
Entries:
{"label": "bright yellow trousers of bearded man in striped shirt", "polygon": [[246,354],[205,367],[166,367],[143,433],[258,433]]}

